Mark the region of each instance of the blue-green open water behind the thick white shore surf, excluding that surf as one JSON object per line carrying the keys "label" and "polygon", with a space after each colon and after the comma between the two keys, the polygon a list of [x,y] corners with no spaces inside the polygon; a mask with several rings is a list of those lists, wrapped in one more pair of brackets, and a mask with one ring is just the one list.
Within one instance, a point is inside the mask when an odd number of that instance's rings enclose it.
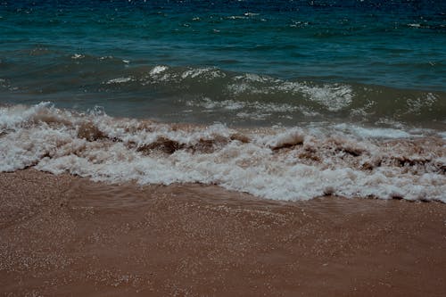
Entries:
{"label": "blue-green open water behind the thick white shore surf, excluding that surf", "polygon": [[446,1],[0,2],[4,103],[417,126],[444,124],[445,92]]}

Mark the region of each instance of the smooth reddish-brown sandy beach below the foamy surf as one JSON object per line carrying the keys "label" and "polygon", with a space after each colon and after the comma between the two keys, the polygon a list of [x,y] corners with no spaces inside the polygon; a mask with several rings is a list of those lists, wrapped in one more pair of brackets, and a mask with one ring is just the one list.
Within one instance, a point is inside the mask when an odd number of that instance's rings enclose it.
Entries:
{"label": "smooth reddish-brown sandy beach below the foamy surf", "polygon": [[0,292],[446,296],[446,204],[0,174]]}

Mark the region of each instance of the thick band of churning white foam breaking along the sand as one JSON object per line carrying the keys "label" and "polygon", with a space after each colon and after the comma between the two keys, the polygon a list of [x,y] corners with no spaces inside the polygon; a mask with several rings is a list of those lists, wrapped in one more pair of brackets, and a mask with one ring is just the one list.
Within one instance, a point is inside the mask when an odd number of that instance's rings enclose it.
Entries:
{"label": "thick band of churning white foam breaking along the sand", "polygon": [[409,133],[178,128],[50,103],[15,105],[0,107],[0,171],[34,167],[106,182],[199,182],[278,200],[338,194],[446,202],[446,141],[401,138]]}

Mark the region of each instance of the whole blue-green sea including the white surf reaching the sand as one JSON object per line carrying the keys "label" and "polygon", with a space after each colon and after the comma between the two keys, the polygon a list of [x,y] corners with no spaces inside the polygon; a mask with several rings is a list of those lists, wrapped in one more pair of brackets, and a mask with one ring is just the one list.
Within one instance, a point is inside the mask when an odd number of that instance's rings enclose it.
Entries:
{"label": "whole blue-green sea including the white surf reaching the sand", "polygon": [[446,2],[1,1],[0,171],[446,202]]}

